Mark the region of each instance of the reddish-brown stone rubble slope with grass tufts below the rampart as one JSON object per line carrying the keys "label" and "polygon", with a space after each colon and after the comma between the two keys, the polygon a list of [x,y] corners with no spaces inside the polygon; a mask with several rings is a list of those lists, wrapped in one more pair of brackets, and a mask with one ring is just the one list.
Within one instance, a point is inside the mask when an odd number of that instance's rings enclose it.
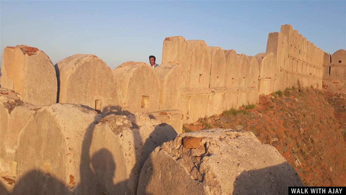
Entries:
{"label": "reddish-brown stone rubble slope with grass tufts below the rampart", "polygon": [[274,146],[304,185],[345,186],[346,94],[311,87],[281,93],[260,95],[253,109],[245,110],[244,105],[236,115],[225,112],[184,128],[247,129],[262,143]]}

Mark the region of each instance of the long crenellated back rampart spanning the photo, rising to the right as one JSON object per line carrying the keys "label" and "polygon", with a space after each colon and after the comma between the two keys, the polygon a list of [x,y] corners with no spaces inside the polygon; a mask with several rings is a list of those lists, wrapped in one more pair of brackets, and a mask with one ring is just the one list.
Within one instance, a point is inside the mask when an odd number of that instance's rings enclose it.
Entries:
{"label": "long crenellated back rampart spanning the photo, rising to the right", "polygon": [[[75,54],[56,63],[57,81],[43,74],[54,72],[49,58],[37,48],[27,48],[5,48],[1,77],[1,86],[24,100],[49,105],[56,99],[105,114],[150,112],[153,118],[180,125],[255,103],[258,94],[295,86],[298,79],[303,87],[321,88],[322,79],[324,86],[337,80],[340,86],[334,88],[345,87],[345,50],[331,57],[291,25],[269,33],[266,52],[256,56],[182,36],[166,37],[162,64],[155,69],[143,62],[125,62],[112,71],[97,56]],[[40,52],[43,57],[37,56]]]}

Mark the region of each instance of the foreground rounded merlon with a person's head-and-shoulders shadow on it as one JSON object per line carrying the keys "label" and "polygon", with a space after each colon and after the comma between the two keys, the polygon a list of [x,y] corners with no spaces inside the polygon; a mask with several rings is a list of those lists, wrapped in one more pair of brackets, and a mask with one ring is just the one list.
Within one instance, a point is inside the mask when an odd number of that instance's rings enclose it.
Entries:
{"label": "foreground rounded merlon with a person's head-and-shoulders shadow on it", "polygon": [[139,173],[149,154],[176,135],[170,125],[145,113],[100,119],[85,135],[82,183],[75,193],[136,194]]}

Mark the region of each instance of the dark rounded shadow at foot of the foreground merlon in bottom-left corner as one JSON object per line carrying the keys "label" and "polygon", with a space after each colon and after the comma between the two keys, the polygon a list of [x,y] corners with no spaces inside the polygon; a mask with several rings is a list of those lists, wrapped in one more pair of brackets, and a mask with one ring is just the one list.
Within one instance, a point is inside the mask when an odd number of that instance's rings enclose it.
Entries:
{"label": "dark rounded shadow at foot of the foreground merlon in bottom-left corner", "polygon": [[31,170],[21,177],[14,186],[17,194],[70,194],[65,184],[55,177],[39,170]]}

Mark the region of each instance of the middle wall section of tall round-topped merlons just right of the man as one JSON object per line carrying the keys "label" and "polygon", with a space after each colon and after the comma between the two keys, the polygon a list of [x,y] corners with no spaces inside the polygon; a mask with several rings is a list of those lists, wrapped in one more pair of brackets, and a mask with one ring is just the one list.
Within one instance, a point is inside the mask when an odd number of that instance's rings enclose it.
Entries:
{"label": "middle wall section of tall round-topped merlons just right of the man", "polygon": [[[164,74],[160,69],[175,64],[184,75],[177,78],[179,85],[166,85],[178,91],[175,101],[180,102],[176,105],[182,111],[184,123],[255,103],[258,98],[258,62],[255,58],[237,54],[234,50],[208,47],[202,40],[186,41],[181,36],[164,40],[162,57],[163,64],[156,70]],[[254,74],[255,79],[251,77]]]}

